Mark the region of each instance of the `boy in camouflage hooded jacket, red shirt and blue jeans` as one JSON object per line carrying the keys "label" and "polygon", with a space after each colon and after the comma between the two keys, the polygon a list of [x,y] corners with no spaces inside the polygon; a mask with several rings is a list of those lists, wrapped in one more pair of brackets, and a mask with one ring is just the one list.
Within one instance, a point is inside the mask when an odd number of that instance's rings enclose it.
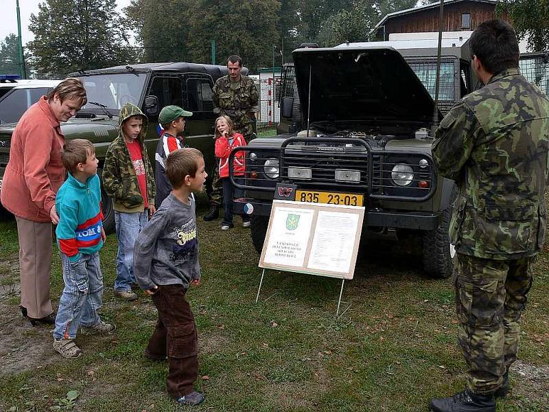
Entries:
{"label": "boy in camouflage hooded jacket, red shirt and blue jeans", "polygon": [[126,103],[120,109],[120,131],[110,144],[103,168],[103,187],[113,199],[118,238],[115,295],[135,300],[132,292],[133,247],[137,235],[154,214],[154,171],[143,143],[147,117],[139,107]]}

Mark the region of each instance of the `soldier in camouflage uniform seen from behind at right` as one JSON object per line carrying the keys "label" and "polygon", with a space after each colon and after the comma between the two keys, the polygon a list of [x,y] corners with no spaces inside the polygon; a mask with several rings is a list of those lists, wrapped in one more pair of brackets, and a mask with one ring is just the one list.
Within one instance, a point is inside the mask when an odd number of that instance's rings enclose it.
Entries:
{"label": "soldier in camouflage uniform seen from behind at right", "polygon": [[544,244],[549,100],[520,76],[511,25],[486,21],[471,35],[485,84],[444,117],[432,153],[458,185],[449,237],[457,251],[458,341],[467,389],[432,400],[433,411],[495,412],[517,358],[519,319]]}

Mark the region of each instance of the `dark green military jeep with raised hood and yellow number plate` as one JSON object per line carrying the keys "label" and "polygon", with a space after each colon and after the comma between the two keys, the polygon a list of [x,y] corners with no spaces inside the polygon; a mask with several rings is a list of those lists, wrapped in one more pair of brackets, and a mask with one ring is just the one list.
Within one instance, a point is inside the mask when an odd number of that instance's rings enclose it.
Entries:
{"label": "dark green military jeep with raised hood and yellow number plate", "polygon": [[[358,205],[366,208],[363,236],[417,235],[425,272],[448,277],[454,183],[434,168],[434,101],[410,63],[375,43],[297,49],[293,58],[305,130],[255,139],[244,148],[246,179],[237,185],[244,198],[234,205],[251,215],[255,249],[263,247],[273,198]],[[443,60],[452,78],[443,100],[458,100],[471,84],[461,76],[460,61]],[[425,80],[434,80],[436,60],[420,63]],[[295,98],[283,99],[282,118],[292,117]]]}

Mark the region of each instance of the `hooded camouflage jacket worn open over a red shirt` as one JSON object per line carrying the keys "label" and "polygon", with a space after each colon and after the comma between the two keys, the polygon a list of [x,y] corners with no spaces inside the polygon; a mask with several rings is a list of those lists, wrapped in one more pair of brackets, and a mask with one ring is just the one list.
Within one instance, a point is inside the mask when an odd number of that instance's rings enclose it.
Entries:
{"label": "hooded camouflage jacket worn open over a red shirt", "polygon": [[119,124],[120,130],[118,137],[108,147],[105,163],[103,166],[103,187],[108,197],[113,199],[116,211],[134,213],[144,210],[143,196],[139,190],[137,175],[133,168],[130,151],[124,141],[124,132],[122,124],[135,115],[143,116],[143,128],[137,139],[143,148],[143,165],[145,166],[145,176],[147,180],[147,195],[149,205],[154,205],[154,196],[156,196],[156,186],[154,185],[154,170],[150,164],[147,154],[147,147],[143,144],[147,130],[147,117],[139,110],[139,107],[126,103],[120,109]]}

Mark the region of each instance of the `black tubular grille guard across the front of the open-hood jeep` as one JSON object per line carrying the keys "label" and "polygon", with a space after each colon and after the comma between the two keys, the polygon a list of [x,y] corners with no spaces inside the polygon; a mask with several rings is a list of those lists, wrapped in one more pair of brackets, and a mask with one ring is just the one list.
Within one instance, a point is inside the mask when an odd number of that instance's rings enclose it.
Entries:
{"label": "black tubular grille guard across the front of the open-hood jeep", "polygon": [[[235,153],[241,151],[245,153],[246,171],[244,176],[235,176]],[[255,161],[250,161],[250,152],[255,153]],[[362,192],[366,198],[372,200],[414,203],[428,201],[436,192],[438,174],[432,156],[428,153],[373,148],[369,141],[363,139],[290,137],[283,141],[277,155],[280,161],[279,177],[278,179],[269,179],[266,176],[261,176],[259,172],[263,169],[267,159],[276,158],[273,148],[250,146],[234,148],[229,156],[231,183],[242,190],[274,192],[276,183],[291,181],[303,186],[305,190]],[[420,166],[421,159],[427,160],[428,164]],[[410,187],[399,187],[391,179],[391,170],[399,163],[410,165],[414,170],[414,179]],[[289,167],[311,168],[312,179],[292,180],[288,178]],[[334,176],[336,169],[360,170],[360,182],[336,181]],[[253,176],[254,179],[252,179]],[[242,177],[246,178],[244,183],[235,181],[235,178]],[[420,182],[426,187],[420,187]]]}

